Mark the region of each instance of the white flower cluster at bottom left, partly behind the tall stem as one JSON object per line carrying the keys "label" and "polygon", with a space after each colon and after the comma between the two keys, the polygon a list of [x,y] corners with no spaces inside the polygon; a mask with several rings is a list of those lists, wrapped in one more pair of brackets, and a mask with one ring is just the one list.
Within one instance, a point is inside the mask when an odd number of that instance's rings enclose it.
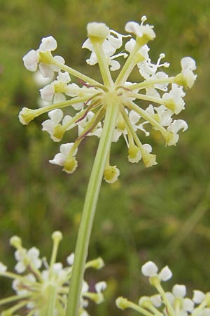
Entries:
{"label": "white flower cluster at bottom left, partly behind the tall stem", "polygon": [[[56,262],[57,249],[61,239],[61,232],[53,232],[50,264],[48,264],[46,258],[39,258],[39,250],[36,247],[27,250],[23,248],[20,237],[14,236],[10,239],[10,244],[16,249],[15,259],[17,263],[15,271],[17,273],[8,272],[6,265],[0,262],[0,276],[13,279],[12,288],[15,295],[2,298],[0,305],[18,303],[1,312],[1,316],[17,316],[17,312],[21,312],[21,315],[26,316],[65,315],[74,255],[72,253],[66,258],[68,264],[66,268],[63,267],[62,263]],[[88,261],[85,268],[100,269],[103,266],[102,258],[97,258]],[[86,311],[87,299],[95,303],[104,301],[102,291],[106,289],[106,282],[98,282],[94,289],[93,292],[90,291],[87,282],[83,282],[80,316],[89,315]],[[52,312],[50,314],[48,308],[51,308]]]}

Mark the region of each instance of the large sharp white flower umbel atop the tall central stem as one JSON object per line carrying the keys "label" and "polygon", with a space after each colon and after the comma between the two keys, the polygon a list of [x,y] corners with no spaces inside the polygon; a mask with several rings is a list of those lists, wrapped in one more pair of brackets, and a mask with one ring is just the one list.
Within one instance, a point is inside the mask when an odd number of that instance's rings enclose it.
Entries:
{"label": "large sharp white flower umbel atop the tall central stem", "polygon": [[[143,16],[140,25],[127,22],[125,31],[129,35],[119,34],[104,23],[91,22],[87,25],[88,39],[83,44],[83,48],[91,51],[87,64],[99,64],[103,83],[65,65],[61,56],[52,55],[57,48],[52,36],[43,38],[36,51],[31,50],[24,56],[27,70],[36,72],[39,69],[43,77],[52,78],[52,82],[40,90],[45,106],[36,110],[24,107],[19,115],[21,123],[28,124],[35,117],[48,112],[49,119],[42,123],[43,131],[47,131],[55,142],[61,141],[66,131],[74,127],[78,129],[74,143],[60,145],[60,152],[50,163],[63,166],[67,173],[76,170],[78,146],[86,136],[100,138],[106,108],[111,100],[116,100],[118,107],[112,141],[117,142],[123,136],[129,162],[137,163],[142,159],[146,167],[156,164],[151,145],[141,143],[137,131],[149,136],[151,127],[147,126],[151,125],[152,129],[162,134],[167,146],[176,145],[179,131],[186,131],[186,121],[172,119],[172,116],[185,107],[183,97],[186,93],[183,88],[191,88],[195,82],[195,60],[182,58],[181,72],[169,77],[162,71],[164,67],[169,67],[168,62],[162,62],[165,54],[161,53],[156,63],[148,55],[147,44],[155,39],[155,32],[153,26],[144,24],[145,21],[146,17]],[[117,58],[125,60],[122,67]],[[135,67],[139,69],[139,83],[129,81]],[[111,71],[116,70],[119,70],[118,76],[113,81]],[[71,82],[70,75],[77,78],[77,83]],[[146,105],[139,103],[140,100],[146,101]],[[69,114],[64,113],[62,109],[66,107],[73,108],[75,114],[72,116],[72,110]],[[118,168],[110,164],[109,150],[104,179],[113,183],[119,175]]]}

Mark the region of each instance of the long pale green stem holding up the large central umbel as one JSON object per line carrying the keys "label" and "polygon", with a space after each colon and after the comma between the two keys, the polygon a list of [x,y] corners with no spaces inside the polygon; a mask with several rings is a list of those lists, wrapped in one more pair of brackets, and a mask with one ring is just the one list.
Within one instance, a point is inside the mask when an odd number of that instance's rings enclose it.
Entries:
{"label": "long pale green stem holding up the large central umbel", "polygon": [[66,307],[66,316],[77,316],[80,306],[80,292],[85,271],[85,261],[87,258],[90,233],[94,220],[94,213],[97,206],[99,191],[102,184],[106,157],[111,147],[113,130],[115,129],[118,116],[119,98],[114,93],[109,93],[106,97],[106,115],[102,136],[99,141],[97,154],[94,159],[90,180],[87,186],[83,214],[78,231],[76,242],[75,258],[71,275],[69,297]]}

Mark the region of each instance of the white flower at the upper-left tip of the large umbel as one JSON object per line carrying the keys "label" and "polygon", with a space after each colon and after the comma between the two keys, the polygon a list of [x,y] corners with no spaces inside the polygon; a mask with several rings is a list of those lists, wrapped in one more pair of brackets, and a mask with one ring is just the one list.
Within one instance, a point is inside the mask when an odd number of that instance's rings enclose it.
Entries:
{"label": "white flower at the upper-left tip of the large umbel", "polygon": [[[41,44],[38,48],[38,50],[34,51],[32,49],[29,51],[23,58],[23,62],[27,70],[31,72],[36,72],[37,68],[39,67],[39,70],[43,77],[52,77],[55,71],[59,71],[59,68],[55,65],[52,65],[46,62],[41,62],[40,61],[40,53],[48,53],[51,51],[55,51],[57,48],[57,41],[50,36],[50,37],[43,37],[41,40]],[[61,56],[54,56],[54,60],[57,62],[61,62],[64,64],[64,58]]]}

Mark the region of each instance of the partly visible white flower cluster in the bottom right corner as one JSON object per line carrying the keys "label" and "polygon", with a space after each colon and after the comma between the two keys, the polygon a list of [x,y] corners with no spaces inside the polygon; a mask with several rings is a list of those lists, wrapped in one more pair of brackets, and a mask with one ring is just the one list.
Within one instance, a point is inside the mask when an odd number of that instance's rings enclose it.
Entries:
{"label": "partly visible white flower cluster in the bottom right corner", "polygon": [[142,296],[139,304],[128,301],[127,298],[119,297],[116,300],[118,308],[132,308],[145,316],[209,316],[210,315],[210,292],[193,291],[193,298],[186,297],[186,286],[175,284],[172,291],[165,292],[161,282],[172,277],[172,271],[166,266],[158,273],[158,267],[152,261],[145,263],[141,272],[149,277],[149,281],[158,291],[153,296]]}

